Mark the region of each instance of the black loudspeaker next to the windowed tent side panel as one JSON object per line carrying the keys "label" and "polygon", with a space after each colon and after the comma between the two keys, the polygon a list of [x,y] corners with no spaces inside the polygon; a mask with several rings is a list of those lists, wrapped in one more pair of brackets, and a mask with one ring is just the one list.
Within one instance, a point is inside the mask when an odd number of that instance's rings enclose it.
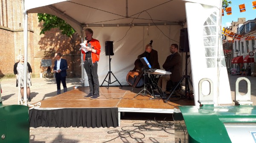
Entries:
{"label": "black loudspeaker next to the windowed tent side panel", "polygon": [[180,52],[189,52],[188,28],[180,29]]}

